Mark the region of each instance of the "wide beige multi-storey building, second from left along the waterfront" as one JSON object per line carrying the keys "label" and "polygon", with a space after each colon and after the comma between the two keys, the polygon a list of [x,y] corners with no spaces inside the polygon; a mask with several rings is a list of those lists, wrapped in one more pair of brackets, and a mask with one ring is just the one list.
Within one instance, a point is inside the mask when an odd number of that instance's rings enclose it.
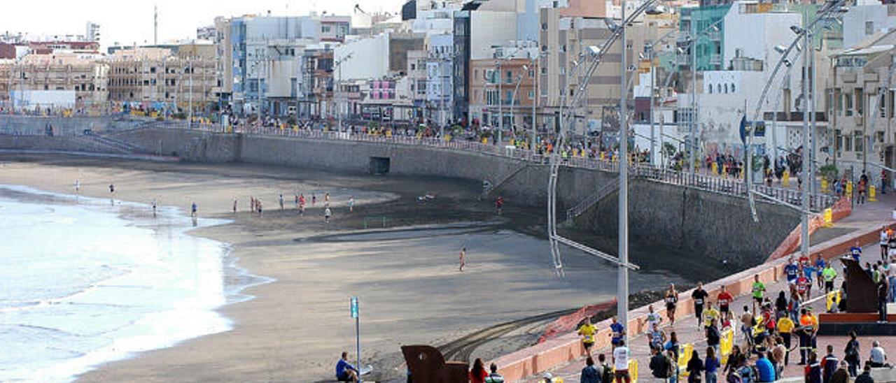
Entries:
{"label": "wide beige multi-storey building, second from left along the waterfront", "polygon": [[[107,60],[108,96],[144,108],[202,111],[217,103],[220,89],[213,46],[186,45],[172,55],[166,48],[125,49]],[[137,106],[132,105],[132,106]]]}

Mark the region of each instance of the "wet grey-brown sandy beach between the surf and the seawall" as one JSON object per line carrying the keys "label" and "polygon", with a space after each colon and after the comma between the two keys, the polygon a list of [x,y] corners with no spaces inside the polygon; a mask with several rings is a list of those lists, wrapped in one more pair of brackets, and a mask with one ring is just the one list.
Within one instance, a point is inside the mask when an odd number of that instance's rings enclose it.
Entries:
{"label": "wet grey-brown sandy beach between the surf and the seawall", "polygon": [[[255,299],[220,310],[234,330],[105,364],[82,381],[327,380],[340,351],[354,350],[351,295],[361,301],[364,359],[396,378],[403,375],[395,369],[399,345],[443,345],[496,323],[602,302],[616,290],[616,268],[579,252],[564,251],[566,278],[556,278],[547,241],[521,234],[540,231],[542,209],[508,200],[505,215],[495,217],[491,203],[478,201],[475,182],[243,164],[0,157],[0,183],[73,193],[76,179],[91,197],[108,198],[108,184],[115,183],[116,199],[149,204],[156,198],[184,211],[195,201],[201,217],[233,219],[191,234],[230,243],[240,267],[276,280],[246,289]],[[304,217],[292,202],[296,191],[308,199]],[[322,217],[325,192],[334,210],[330,224]],[[418,201],[423,194],[437,197]],[[246,211],[250,195],[263,200],[263,217]],[[349,196],[356,198],[351,213]],[[373,227],[383,220],[386,228]],[[461,273],[463,246],[468,268]],[[684,279],[637,272],[632,291]],[[470,356],[491,358],[529,345],[538,330],[537,323],[521,325],[477,345]]]}

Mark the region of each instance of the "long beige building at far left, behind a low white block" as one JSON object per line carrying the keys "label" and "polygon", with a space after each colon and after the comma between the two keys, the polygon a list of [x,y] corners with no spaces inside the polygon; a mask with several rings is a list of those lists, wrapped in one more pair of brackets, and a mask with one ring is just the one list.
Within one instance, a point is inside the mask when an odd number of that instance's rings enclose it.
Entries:
{"label": "long beige building at far left, behind a low white block", "polygon": [[[105,107],[108,66],[96,55],[49,54],[25,55],[19,60],[0,62],[0,103],[9,105],[13,93],[73,91],[73,108],[84,110]],[[48,98],[45,98],[48,99]],[[16,100],[19,107],[25,99]],[[29,106],[32,107],[32,106]]]}

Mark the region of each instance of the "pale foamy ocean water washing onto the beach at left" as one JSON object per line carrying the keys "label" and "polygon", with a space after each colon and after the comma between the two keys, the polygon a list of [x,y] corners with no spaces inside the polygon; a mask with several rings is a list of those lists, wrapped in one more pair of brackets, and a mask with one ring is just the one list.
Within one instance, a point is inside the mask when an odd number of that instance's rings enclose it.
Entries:
{"label": "pale foamy ocean water washing onto the beach at left", "polygon": [[193,227],[178,209],[0,185],[0,381],[71,381],[230,329],[214,309],[266,280]]}

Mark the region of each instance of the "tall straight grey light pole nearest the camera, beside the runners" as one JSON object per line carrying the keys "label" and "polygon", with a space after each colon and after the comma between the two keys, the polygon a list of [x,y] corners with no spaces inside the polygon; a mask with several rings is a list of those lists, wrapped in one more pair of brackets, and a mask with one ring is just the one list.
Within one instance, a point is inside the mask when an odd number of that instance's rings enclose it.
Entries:
{"label": "tall straight grey light pole nearest the camera, beside the runners", "polygon": [[[622,25],[619,27],[621,41],[619,58],[619,280],[616,284],[616,316],[628,327],[628,127],[625,103],[628,93],[625,64],[627,46],[625,42],[625,0],[622,0]],[[590,79],[586,79],[589,81]],[[627,340],[627,336],[624,336]]]}

